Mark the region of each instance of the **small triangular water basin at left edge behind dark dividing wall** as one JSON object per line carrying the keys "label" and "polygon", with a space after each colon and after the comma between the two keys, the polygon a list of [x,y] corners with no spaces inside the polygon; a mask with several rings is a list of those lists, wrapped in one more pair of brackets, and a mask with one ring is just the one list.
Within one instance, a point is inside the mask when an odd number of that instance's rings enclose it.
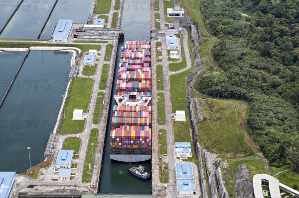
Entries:
{"label": "small triangular water basin at left edge behind dark dividing wall", "polygon": [[0,100],[4,96],[25,52],[0,53]]}

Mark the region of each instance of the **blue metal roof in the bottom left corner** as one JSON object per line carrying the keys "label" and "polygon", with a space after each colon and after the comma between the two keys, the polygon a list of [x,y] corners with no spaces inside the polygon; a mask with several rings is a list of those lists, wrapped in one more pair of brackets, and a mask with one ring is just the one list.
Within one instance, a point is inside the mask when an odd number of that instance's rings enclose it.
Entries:
{"label": "blue metal roof in the bottom left corner", "polygon": [[8,198],[14,183],[15,172],[0,172],[0,198]]}

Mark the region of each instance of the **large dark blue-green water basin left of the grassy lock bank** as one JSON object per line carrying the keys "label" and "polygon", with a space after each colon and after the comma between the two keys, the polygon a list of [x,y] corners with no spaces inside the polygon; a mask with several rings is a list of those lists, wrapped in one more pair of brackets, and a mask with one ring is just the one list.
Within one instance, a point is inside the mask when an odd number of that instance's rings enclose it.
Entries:
{"label": "large dark blue-green water basin left of the grassy lock bank", "polygon": [[[32,166],[44,160],[47,140],[62,103],[61,95],[65,93],[72,54],[29,53],[0,107],[0,171],[20,173],[28,169],[28,146]],[[12,60],[1,62],[1,71],[9,68]]]}

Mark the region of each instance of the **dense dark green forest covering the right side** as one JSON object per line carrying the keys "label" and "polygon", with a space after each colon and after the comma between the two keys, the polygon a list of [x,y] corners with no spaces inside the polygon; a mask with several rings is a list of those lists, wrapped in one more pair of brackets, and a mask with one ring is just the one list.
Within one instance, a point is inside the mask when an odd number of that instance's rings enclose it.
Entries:
{"label": "dense dark green forest covering the right side", "polygon": [[247,100],[249,130],[270,165],[299,171],[299,1],[203,0],[200,9],[219,38],[218,66],[196,88]]}

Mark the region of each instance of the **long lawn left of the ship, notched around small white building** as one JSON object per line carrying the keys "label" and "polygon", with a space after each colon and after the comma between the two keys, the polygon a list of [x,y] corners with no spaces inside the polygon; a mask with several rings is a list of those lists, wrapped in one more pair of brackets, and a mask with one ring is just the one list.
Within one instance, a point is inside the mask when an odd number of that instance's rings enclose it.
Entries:
{"label": "long lawn left of the ship, notched around small white building", "polygon": [[60,133],[79,133],[83,131],[85,120],[72,120],[74,109],[87,112],[93,79],[75,78],[65,100],[65,118],[62,119]]}

